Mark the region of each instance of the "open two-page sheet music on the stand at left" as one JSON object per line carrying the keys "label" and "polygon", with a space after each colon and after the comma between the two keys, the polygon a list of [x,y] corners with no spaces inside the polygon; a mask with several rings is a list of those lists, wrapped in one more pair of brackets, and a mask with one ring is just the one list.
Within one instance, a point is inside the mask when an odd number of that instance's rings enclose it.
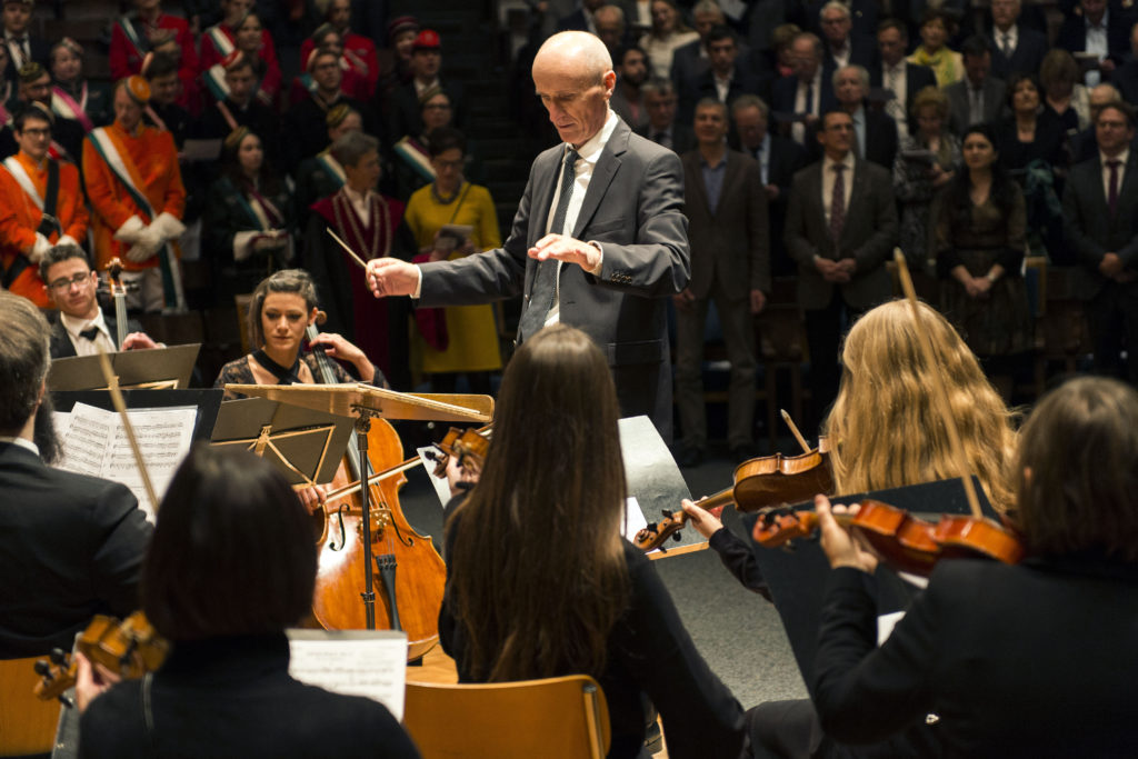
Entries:
{"label": "open two-page sheet music on the stand at left", "polygon": [[[190,452],[198,411],[195,406],[172,406],[131,409],[126,413],[155,493],[162,498],[174,470]],[[146,494],[118,413],[76,403],[61,442],[60,469],[122,482],[134,493],[147,519],[154,521],[156,504]]]}

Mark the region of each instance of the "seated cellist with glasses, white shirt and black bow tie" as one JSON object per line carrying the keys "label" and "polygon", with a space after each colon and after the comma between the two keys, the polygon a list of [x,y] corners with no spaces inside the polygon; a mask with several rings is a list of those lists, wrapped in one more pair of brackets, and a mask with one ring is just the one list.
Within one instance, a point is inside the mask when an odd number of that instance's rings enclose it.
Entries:
{"label": "seated cellist with glasses, white shirt and black bow tie", "polygon": [[[116,322],[99,307],[94,297],[99,277],[91,271],[86,256],[74,245],[57,245],[40,261],[43,291],[59,310],[59,320],[51,325],[51,357],[90,356],[101,347],[108,353],[115,347]],[[122,350],[160,348],[133,319]]]}

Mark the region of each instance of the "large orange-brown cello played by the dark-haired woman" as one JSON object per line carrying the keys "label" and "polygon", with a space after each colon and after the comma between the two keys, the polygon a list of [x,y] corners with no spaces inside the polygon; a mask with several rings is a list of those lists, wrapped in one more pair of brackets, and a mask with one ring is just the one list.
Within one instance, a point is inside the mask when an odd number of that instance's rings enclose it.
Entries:
{"label": "large orange-brown cello played by the dark-haired woman", "polygon": [[[310,324],[310,344],[315,337],[316,327]],[[322,348],[313,350],[320,366],[319,379],[325,385],[335,385],[331,360]],[[349,453],[345,454],[332,479],[335,489],[351,489],[362,479],[356,457],[352,455],[356,449],[356,435],[353,430]],[[407,660],[411,661],[438,642],[438,611],[443,605],[446,564],[431,538],[417,533],[403,514],[398,492],[407,481],[406,477],[399,472],[373,481],[376,471],[403,461],[403,443],[387,420],[371,421],[368,452],[368,496],[376,561],[371,571],[378,580],[376,628],[406,633]],[[361,600],[364,538],[360,495],[355,493],[335,505],[325,503],[315,515],[320,551],[313,618],[324,629],[364,629],[366,614]]]}

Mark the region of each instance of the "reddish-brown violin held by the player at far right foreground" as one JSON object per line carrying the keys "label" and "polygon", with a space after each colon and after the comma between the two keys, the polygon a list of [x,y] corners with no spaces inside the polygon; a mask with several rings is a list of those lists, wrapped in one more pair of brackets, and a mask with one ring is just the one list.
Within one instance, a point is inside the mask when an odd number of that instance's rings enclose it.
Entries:
{"label": "reddish-brown violin held by the player at far right foreground", "polygon": [[[834,514],[843,527],[865,538],[889,566],[927,577],[941,559],[992,559],[1019,563],[1024,547],[1011,529],[991,519],[942,514],[931,522],[880,501],[866,500],[856,514]],[[751,537],[768,548],[808,537],[818,529],[813,511],[765,510]]]}

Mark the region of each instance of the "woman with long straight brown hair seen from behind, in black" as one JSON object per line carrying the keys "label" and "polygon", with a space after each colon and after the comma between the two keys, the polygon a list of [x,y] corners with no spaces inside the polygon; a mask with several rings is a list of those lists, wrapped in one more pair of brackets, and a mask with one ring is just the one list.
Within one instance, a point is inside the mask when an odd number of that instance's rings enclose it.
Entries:
{"label": "woman with long straight brown hair seen from behind, in black", "polygon": [[[610,759],[642,756],[648,701],[671,756],[740,756],[739,702],[652,562],[620,537],[627,486],[604,355],[583,332],[547,327],[514,354],[498,397],[481,478],[446,509],[439,640],[460,682],[592,675],[609,704]],[[535,426],[559,445],[534,445]]]}

